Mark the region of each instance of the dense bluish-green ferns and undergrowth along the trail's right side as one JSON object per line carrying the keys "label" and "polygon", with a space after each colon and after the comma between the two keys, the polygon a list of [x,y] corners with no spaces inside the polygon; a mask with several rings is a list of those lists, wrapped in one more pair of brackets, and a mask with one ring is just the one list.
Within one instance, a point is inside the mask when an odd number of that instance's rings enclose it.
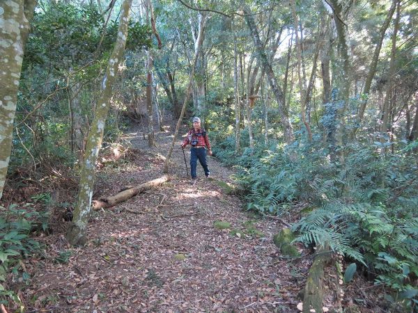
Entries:
{"label": "dense bluish-green ferns and undergrowth along the trail's right side", "polygon": [[[293,202],[318,208],[293,225],[295,241],[328,246],[362,264],[376,282],[412,295],[418,275],[418,173],[411,148],[398,146],[404,152],[382,155],[369,143],[346,145],[341,165],[331,161],[319,139],[286,148],[258,145],[235,159],[237,179],[247,209],[283,214]],[[231,149],[233,143],[226,140],[221,147]]]}

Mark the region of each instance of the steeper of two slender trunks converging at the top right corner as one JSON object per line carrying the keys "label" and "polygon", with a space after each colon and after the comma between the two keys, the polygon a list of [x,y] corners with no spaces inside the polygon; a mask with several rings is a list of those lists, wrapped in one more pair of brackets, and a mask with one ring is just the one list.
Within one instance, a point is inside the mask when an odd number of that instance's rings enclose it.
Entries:
{"label": "steeper of two slender trunks converging at the top right corner", "polygon": [[[382,108],[382,123],[380,124],[380,133],[387,134],[388,120],[389,120],[389,103],[390,98],[392,97],[392,87],[394,81],[394,72],[395,72],[395,57],[396,57],[396,35],[398,34],[398,25],[399,25],[399,18],[401,16],[401,6],[399,1],[397,1],[397,8],[396,8],[396,19],[394,25],[394,33],[392,33],[392,51],[390,54],[390,62],[389,62],[389,72],[387,73],[387,89],[385,95],[385,102],[383,102]],[[381,143],[385,143],[385,138],[382,136],[380,138]],[[385,147],[382,148],[382,153],[385,153]]]}

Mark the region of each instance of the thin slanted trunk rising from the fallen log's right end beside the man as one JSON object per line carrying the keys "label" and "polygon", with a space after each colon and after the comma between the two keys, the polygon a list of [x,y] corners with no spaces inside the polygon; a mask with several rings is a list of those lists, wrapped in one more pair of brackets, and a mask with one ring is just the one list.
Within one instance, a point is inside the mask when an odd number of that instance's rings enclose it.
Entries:
{"label": "thin slanted trunk rising from the fallen log's right end beside the man", "polygon": [[200,48],[203,42],[203,29],[205,28],[205,22],[206,22],[206,15],[203,15],[203,14],[199,15],[199,33],[197,35],[196,46],[194,48],[192,72],[190,73],[190,78],[189,78],[190,80],[189,80],[189,85],[187,86],[187,90],[186,90],[185,101],[183,102],[183,107],[180,112],[180,117],[178,118],[178,121],[177,121],[176,130],[174,131],[173,141],[171,142],[169,153],[167,154],[167,158],[164,163],[164,173],[169,172],[171,153],[173,153],[173,147],[177,140],[178,130],[180,129],[180,124],[183,120],[183,115],[185,114],[185,111],[186,111],[187,100],[189,98],[190,91],[192,90],[194,70],[196,68],[197,58],[199,56]]}

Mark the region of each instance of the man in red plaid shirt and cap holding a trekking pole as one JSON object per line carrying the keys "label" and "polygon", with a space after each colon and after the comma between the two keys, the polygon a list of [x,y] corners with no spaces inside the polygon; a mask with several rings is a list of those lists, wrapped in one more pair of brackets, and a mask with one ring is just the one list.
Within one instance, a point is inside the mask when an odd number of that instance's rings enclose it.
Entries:
{"label": "man in red plaid shirt and cap holding a trekking pole", "polygon": [[205,171],[206,178],[209,177],[210,171],[208,168],[208,163],[206,162],[206,150],[208,154],[212,155],[212,150],[210,149],[210,143],[208,134],[206,131],[201,128],[200,118],[193,118],[193,128],[187,133],[187,137],[181,143],[181,147],[184,148],[186,145],[192,145],[190,149],[190,171],[192,172],[192,182],[194,185],[196,183],[196,166],[197,160],[201,163],[203,170]]}

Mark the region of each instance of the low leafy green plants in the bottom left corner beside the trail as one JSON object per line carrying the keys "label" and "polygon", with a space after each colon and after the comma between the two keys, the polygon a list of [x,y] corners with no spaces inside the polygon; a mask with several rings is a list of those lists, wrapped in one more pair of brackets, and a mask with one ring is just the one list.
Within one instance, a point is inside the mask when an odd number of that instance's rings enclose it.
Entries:
{"label": "low leafy green plants in the bottom left corner beside the trail", "polygon": [[2,284],[8,275],[22,282],[29,280],[21,260],[40,248],[39,243],[29,237],[33,223],[41,223],[45,230],[47,214],[35,211],[30,204],[23,207],[10,204],[8,209],[0,207],[0,298],[4,299],[3,303],[7,302],[6,298],[19,302],[13,291]]}

